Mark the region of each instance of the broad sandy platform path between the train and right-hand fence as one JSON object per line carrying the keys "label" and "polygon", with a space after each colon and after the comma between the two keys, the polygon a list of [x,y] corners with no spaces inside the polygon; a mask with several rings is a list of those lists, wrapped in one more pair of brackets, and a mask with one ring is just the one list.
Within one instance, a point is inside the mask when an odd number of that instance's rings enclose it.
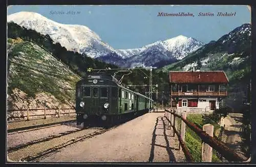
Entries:
{"label": "broad sandy platform path between the train and right-hand fence", "polygon": [[164,113],[147,113],[85,141],[41,157],[37,162],[170,162],[185,161],[171,137]]}

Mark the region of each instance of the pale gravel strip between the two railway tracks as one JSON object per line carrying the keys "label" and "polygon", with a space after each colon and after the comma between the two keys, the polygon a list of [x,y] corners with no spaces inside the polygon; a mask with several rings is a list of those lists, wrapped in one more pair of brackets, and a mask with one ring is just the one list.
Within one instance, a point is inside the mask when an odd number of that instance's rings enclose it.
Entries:
{"label": "pale gravel strip between the two railway tracks", "polygon": [[7,136],[7,149],[15,148],[24,144],[34,143],[36,141],[46,140],[54,136],[59,136],[65,133],[74,132],[81,128],[76,126],[76,122],[45,127],[38,130],[28,130],[19,133],[9,133]]}

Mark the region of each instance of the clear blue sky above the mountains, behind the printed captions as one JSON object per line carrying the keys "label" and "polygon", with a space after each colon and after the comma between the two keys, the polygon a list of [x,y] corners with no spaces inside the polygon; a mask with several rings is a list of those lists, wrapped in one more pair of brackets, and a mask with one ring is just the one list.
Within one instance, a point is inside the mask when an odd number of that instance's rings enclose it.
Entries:
{"label": "clear blue sky above the mountains, behind the printed captions", "polygon": [[[208,43],[251,20],[248,6],[242,5],[19,5],[9,6],[7,14],[20,11],[36,12],[63,24],[86,25],[115,49],[138,48],[179,35]],[[68,14],[69,11],[80,14]],[[195,17],[161,17],[158,12],[189,12]],[[199,12],[215,16],[198,16]],[[236,16],[217,16],[218,12],[236,12]]]}

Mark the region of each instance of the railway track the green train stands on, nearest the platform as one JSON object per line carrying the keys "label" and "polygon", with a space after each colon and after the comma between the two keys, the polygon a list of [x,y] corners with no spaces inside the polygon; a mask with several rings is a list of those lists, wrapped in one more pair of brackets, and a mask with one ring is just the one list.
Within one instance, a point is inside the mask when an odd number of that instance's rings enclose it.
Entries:
{"label": "railway track the green train stands on, nearest the platform", "polygon": [[[79,141],[86,140],[87,138],[93,137],[95,135],[102,134],[105,131],[108,131],[115,127],[116,126],[96,130],[95,127],[87,127],[79,130],[68,131],[57,136],[50,136],[48,138],[32,141],[23,145],[9,148],[7,151],[8,157],[9,159],[15,161],[33,161],[61,148],[67,147]],[[57,142],[57,144],[55,145],[56,141],[63,142]],[[37,150],[38,147],[39,149]]]}

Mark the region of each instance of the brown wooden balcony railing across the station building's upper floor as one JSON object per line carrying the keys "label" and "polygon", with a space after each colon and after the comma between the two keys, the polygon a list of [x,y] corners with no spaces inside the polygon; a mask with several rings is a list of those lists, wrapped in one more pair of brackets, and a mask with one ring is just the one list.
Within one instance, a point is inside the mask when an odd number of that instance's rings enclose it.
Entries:
{"label": "brown wooden balcony railing across the station building's upper floor", "polygon": [[171,92],[171,96],[227,96],[227,92]]}

